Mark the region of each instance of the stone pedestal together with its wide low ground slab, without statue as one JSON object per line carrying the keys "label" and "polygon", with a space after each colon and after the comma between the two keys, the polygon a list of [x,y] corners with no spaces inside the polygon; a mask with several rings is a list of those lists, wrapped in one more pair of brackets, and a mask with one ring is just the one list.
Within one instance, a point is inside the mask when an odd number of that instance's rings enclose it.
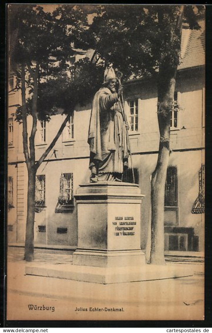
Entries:
{"label": "stone pedestal together with its wide low ground slab, without statue", "polygon": [[123,283],[193,275],[179,265],[145,265],[140,248],[141,194],[122,182],[82,184],[77,189],[78,248],[73,264],[27,265],[26,274],[91,283]]}

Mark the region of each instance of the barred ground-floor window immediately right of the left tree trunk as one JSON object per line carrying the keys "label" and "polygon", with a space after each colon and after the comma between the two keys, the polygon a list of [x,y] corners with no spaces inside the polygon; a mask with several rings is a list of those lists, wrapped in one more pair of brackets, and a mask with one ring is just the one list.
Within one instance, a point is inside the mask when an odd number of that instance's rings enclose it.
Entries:
{"label": "barred ground-floor window immediately right of the left tree trunk", "polygon": [[46,179],[45,174],[36,175],[35,184],[35,207],[39,213],[45,207],[46,202]]}

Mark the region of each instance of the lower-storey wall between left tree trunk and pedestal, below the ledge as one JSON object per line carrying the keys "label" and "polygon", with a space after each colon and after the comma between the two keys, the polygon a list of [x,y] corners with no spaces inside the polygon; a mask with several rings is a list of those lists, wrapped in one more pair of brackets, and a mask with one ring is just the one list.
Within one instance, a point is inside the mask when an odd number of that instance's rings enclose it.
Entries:
{"label": "lower-storey wall between left tree trunk and pedestal, below the ledge", "polygon": [[[47,165],[43,163],[37,174],[45,174],[46,177],[46,207],[36,213],[35,228],[37,243],[77,245],[77,212],[76,205],[72,212],[55,213],[60,193],[61,172],[73,173],[73,192],[80,183],[87,182],[88,159],[69,159],[63,161],[51,161]],[[80,167],[79,167],[80,164]],[[46,233],[39,232],[39,225],[46,225]],[[67,233],[57,233],[57,228],[67,228]]]}

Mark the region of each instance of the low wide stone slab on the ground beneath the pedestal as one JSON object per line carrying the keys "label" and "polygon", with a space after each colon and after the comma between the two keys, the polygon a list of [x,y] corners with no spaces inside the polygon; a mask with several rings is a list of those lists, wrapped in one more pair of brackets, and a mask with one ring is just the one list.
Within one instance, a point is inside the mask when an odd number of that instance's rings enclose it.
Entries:
{"label": "low wide stone slab on the ground beneath the pedestal", "polygon": [[28,265],[27,275],[48,276],[60,279],[111,284],[135,281],[150,281],[192,276],[193,270],[181,265],[142,265],[141,267],[92,267],[82,265]]}

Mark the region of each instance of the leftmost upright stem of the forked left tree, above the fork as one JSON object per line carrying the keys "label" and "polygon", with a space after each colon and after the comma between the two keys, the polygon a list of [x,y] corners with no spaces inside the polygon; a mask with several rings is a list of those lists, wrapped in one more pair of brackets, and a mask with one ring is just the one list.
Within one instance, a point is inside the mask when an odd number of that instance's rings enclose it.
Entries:
{"label": "leftmost upright stem of the forked left tree, above the fork", "polygon": [[26,107],[26,87],[25,87],[25,65],[21,64],[21,99],[22,99],[22,121],[23,121],[23,148],[27,166],[30,165],[30,156],[28,150],[28,133],[27,133],[27,107]]}

